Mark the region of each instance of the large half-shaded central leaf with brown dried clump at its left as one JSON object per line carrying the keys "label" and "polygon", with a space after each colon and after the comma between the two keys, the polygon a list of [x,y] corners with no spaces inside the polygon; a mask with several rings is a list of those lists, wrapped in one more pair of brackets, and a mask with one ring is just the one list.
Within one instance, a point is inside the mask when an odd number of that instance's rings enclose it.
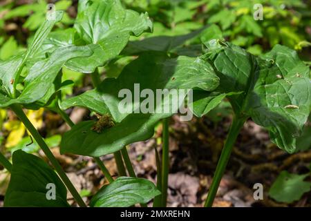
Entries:
{"label": "large half-shaded central leaf with brown dried clump at its left", "polygon": [[[178,106],[174,105],[177,101],[171,101],[170,94],[167,94],[162,102],[154,101],[155,113],[134,113],[139,110],[135,106],[135,99],[131,101],[135,108],[129,113],[122,113],[118,108],[123,100],[119,97],[122,89],[129,89],[132,95],[135,95],[135,84],[140,85],[140,91],[150,89],[153,94],[156,94],[157,89],[196,88],[211,91],[217,88],[218,80],[209,63],[200,58],[182,56],[172,59],[157,53],[141,55],[126,66],[117,79],[106,79],[95,90],[62,102],[62,108],[84,106],[100,114],[109,113],[116,124],[102,133],[96,133],[91,130],[94,122],[79,123],[64,134],[61,151],[91,156],[114,153],[126,144],[148,139],[153,135],[156,122],[177,112]],[[183,101],[185,96],[181,95],[178,99]],[[142,97],[139,99],[140,104],[145,100]],[[164,110],[164,107],[169,107],[169,111],[159,111]]]}

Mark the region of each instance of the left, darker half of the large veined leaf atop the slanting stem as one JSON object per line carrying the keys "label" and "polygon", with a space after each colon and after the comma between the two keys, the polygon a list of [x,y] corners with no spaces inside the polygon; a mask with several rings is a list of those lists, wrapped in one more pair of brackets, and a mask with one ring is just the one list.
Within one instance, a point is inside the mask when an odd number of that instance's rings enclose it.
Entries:
{"label": "left, darker half of the large veined leaf atop the slanting stem", "polygon": [[228,94],[236,113],[243,112],[245,98],[252,92],[258,78],[255,57],[227,42],[211,40],[205,42],[205,46],[208,48],[205,57],[211,59],[220,78],[218,91]]}

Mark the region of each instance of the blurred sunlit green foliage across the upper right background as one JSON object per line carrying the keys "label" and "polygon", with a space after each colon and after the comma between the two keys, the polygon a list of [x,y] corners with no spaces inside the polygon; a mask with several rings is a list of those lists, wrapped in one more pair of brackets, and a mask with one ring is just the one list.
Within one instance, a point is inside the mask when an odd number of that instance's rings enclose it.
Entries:
{"label": "blurred sunlit green foliage across the upper right background", "polygon": [[[223,37],[261,55],[276,44],[296,50],[310,46],[310,4],[300,0],[249,1],[126,0],[127,6],[149,12],[155,35],[182,35],[202,25],[217,24]],[[263,6],[263,20],[255,21],[255,4]]]}

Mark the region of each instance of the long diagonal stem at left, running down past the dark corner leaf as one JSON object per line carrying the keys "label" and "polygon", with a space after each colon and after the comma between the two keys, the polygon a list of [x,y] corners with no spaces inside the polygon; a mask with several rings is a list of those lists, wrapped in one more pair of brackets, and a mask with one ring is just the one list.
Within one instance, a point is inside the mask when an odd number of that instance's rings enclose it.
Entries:
{"label": "long diagonal stem at left, running down past the dark corner leaf", "polygon": [[56,160],[53,153],[50,151],[50,148],[48,148],[48,145],[46,142],[44,142],[43,138],[35,128],[35,126],[32,125],[28,117],[26,117],[25,113],[23,113],[23,109],[21,106],[17,104],[13,104],[10,106],[12,108],[12,111],[15,112],[17,117],[21,119],[21,122],[26,126],[32,137],[36,140],[37,144],[41,147],[42,151],[44,151],[44,154],[46,157],[48,157],[48,160],[53,164],[55,170],[57,171],[59,177],[61,177],[62,181],[66,185],[67,189],[70,191],[71,195],[73,195],[73,198],[77,201],[77,204],[81,207],[86,207],[86,204],[82,200],[81,196],[75,189],[75,186],[73,186],[72,182],[68,179],[66,173],[63,171],[62,166],[59,164],[59,162]]}

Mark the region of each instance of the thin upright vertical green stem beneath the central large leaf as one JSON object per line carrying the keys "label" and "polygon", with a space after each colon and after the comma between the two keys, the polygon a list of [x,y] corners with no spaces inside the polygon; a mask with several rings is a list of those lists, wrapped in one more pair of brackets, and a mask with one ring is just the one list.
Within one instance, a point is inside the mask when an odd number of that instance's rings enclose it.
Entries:
{"label": "thin upright vertical green stem beneath the central large leaf", "polygon": [[169,182],[169,118],[163,119],[162,129],[162,207],[167,206],[167,187]]}

